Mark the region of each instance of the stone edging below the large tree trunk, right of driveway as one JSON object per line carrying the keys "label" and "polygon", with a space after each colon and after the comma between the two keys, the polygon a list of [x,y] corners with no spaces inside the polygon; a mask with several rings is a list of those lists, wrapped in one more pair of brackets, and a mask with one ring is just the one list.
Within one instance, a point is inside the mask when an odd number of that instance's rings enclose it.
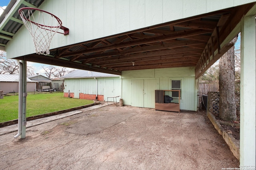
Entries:
{"label": "stone edging below the large tree trunk, right of driveway", "polygon": [[231,152],[238,160],[240,160],[240,142],[237,141],[232,134],[228,133],[222,128],[220,122],[215,119],[212,113],[208,113],[207,116],[214,125],[215,129],[218,131],[218,133],[222,135],[224,141],[228,144]]}

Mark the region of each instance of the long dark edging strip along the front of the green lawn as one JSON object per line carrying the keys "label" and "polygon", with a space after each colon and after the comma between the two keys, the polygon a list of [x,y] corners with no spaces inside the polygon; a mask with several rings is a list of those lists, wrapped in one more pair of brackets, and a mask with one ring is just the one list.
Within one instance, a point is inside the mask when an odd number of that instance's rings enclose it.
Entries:
{"label": "long dark edging strip along the front of the green lawn", "polygon": [[[74,107],[74,108],[70,108],[70,109],[54,111],[54,112],[51,112],[51,113],[45,113],[45,114],[42,114],[42,115],[35,115],[35,116],[27,117],[26,121],[30,121],[30,120],[34,120],[34,119],[39,119],[39,118],[43,118],[43,117],[49,117],[49,116],[53,116],[53,115],[59,115],[59,114],[66,113],[66,112],[69,112],[69,111],[83,109],[83,108],[90,107],[90,106],[95,106],[95,105],[98,105],[98,104],[100,104],[99,101],[94,101],[94,103],[87,104],[87,105],[84,105],[84,106],[78,106],[78,107]],[[17,123],[18,123],[18,119],[11,120],[11,121],[5,121],[5,122],[0,123],[0,127],[14,125],[14,124],[17,124]]]}

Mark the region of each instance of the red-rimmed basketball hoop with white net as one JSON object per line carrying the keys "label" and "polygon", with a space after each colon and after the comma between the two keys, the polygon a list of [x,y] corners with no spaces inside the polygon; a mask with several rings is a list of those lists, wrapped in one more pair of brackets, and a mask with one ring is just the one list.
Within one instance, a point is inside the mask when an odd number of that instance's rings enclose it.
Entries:
{"label": "red-rimmed basketball hoop with white net", "polygon": [[36,54],[50,54],[50,43],[52,37],[59,29],[63,30],[64,35],[69,34],[69,29],[62,26],[62,21],[44,10],[37,8],[20,8],[20,17],[33,38]]}

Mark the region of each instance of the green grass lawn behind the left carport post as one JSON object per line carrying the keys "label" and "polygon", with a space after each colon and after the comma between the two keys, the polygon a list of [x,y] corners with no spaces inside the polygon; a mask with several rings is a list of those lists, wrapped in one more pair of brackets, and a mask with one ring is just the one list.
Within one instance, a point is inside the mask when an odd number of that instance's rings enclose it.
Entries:
{"label": "green grass lawn behind the left carport post", "polygon": [[[92,100],[64,98],[63,93],[29,94],[26,117],[70,109],[93,103]],[[18,96],[0,99],[0,122],[18,119]]]}

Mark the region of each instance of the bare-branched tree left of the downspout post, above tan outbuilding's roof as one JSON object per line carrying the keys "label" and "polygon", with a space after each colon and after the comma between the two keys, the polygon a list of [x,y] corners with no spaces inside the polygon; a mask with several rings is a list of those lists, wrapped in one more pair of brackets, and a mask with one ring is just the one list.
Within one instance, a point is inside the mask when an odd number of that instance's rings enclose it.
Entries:
{"label": "bare-branched tree left of the downspout post, above tan outbuilding's roof", "polygon": [[16,60],[7,59],[4,51],[0,51],[0,74],[19,74],[19,64]]}

